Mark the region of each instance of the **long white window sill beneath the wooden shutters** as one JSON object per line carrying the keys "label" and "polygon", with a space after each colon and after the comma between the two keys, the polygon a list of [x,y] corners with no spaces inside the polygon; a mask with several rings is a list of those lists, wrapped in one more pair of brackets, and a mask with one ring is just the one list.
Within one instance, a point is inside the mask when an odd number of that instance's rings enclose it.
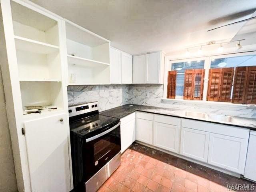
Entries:
{"label": "long white window sill beneath the wooden shutters", "polygon": [[184,99],[162,99],[162,101],[182,102],[190,104],[202,104],[210,106],[228,106],[228,107],[240,107],[245,109],[256,109],[256,105],[253,104],[234,104],[230,102],[216,102],[216,101],[198,101],[198,100],[184,100]]}

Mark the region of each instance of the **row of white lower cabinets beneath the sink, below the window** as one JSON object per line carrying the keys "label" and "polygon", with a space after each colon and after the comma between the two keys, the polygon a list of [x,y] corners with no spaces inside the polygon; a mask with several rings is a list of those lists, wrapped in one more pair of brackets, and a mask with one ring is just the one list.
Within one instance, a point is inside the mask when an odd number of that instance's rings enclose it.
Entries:
{"label": "row of white lower cabinets beneath the sink, below the window", "polygon": [[136,140],[238,174],[244,174],[249,132],[234,126],[136,112]]}

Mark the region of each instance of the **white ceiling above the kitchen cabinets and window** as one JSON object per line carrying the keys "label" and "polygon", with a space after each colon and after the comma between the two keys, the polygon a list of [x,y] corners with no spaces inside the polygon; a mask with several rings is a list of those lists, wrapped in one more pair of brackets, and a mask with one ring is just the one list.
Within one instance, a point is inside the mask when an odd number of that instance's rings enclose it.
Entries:
{"label": "white ceiling above the kitchen cabinets and window", "polygon": [[[255,0],[32,0],[99,34],[130,54],[170,52],[210,40],[232,39],[248,18],[235,13],[256,8]],[[239,15],[239,14],[238,14]]]}

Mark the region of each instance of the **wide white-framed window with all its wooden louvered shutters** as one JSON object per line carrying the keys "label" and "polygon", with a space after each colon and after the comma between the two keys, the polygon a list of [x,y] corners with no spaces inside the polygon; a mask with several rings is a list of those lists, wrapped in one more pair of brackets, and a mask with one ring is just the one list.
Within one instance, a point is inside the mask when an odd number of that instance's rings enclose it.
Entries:
{"label": "wide white-framed window with all its wooden louvered shutters", "polygon": [[167,98],[256,104],[254,54],[170,61],[166,66]]}

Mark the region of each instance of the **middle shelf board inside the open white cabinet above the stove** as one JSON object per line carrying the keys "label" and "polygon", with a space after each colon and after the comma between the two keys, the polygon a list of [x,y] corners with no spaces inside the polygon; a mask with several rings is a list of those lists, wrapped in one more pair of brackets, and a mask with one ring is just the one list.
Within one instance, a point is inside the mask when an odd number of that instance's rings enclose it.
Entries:
{"label": "middle shelf board inside the open white cabinet above the stove", "polygon": [[91,60],[91,59],[86,59],[86,58],[82,58],[82,57],[76,57],[76,56],[72,56],[72,55],[68,55],[68,63],[82,65],[82,66],[86,66],[86,67],[109,66],[108,63],[95,61],[95,60]]}

